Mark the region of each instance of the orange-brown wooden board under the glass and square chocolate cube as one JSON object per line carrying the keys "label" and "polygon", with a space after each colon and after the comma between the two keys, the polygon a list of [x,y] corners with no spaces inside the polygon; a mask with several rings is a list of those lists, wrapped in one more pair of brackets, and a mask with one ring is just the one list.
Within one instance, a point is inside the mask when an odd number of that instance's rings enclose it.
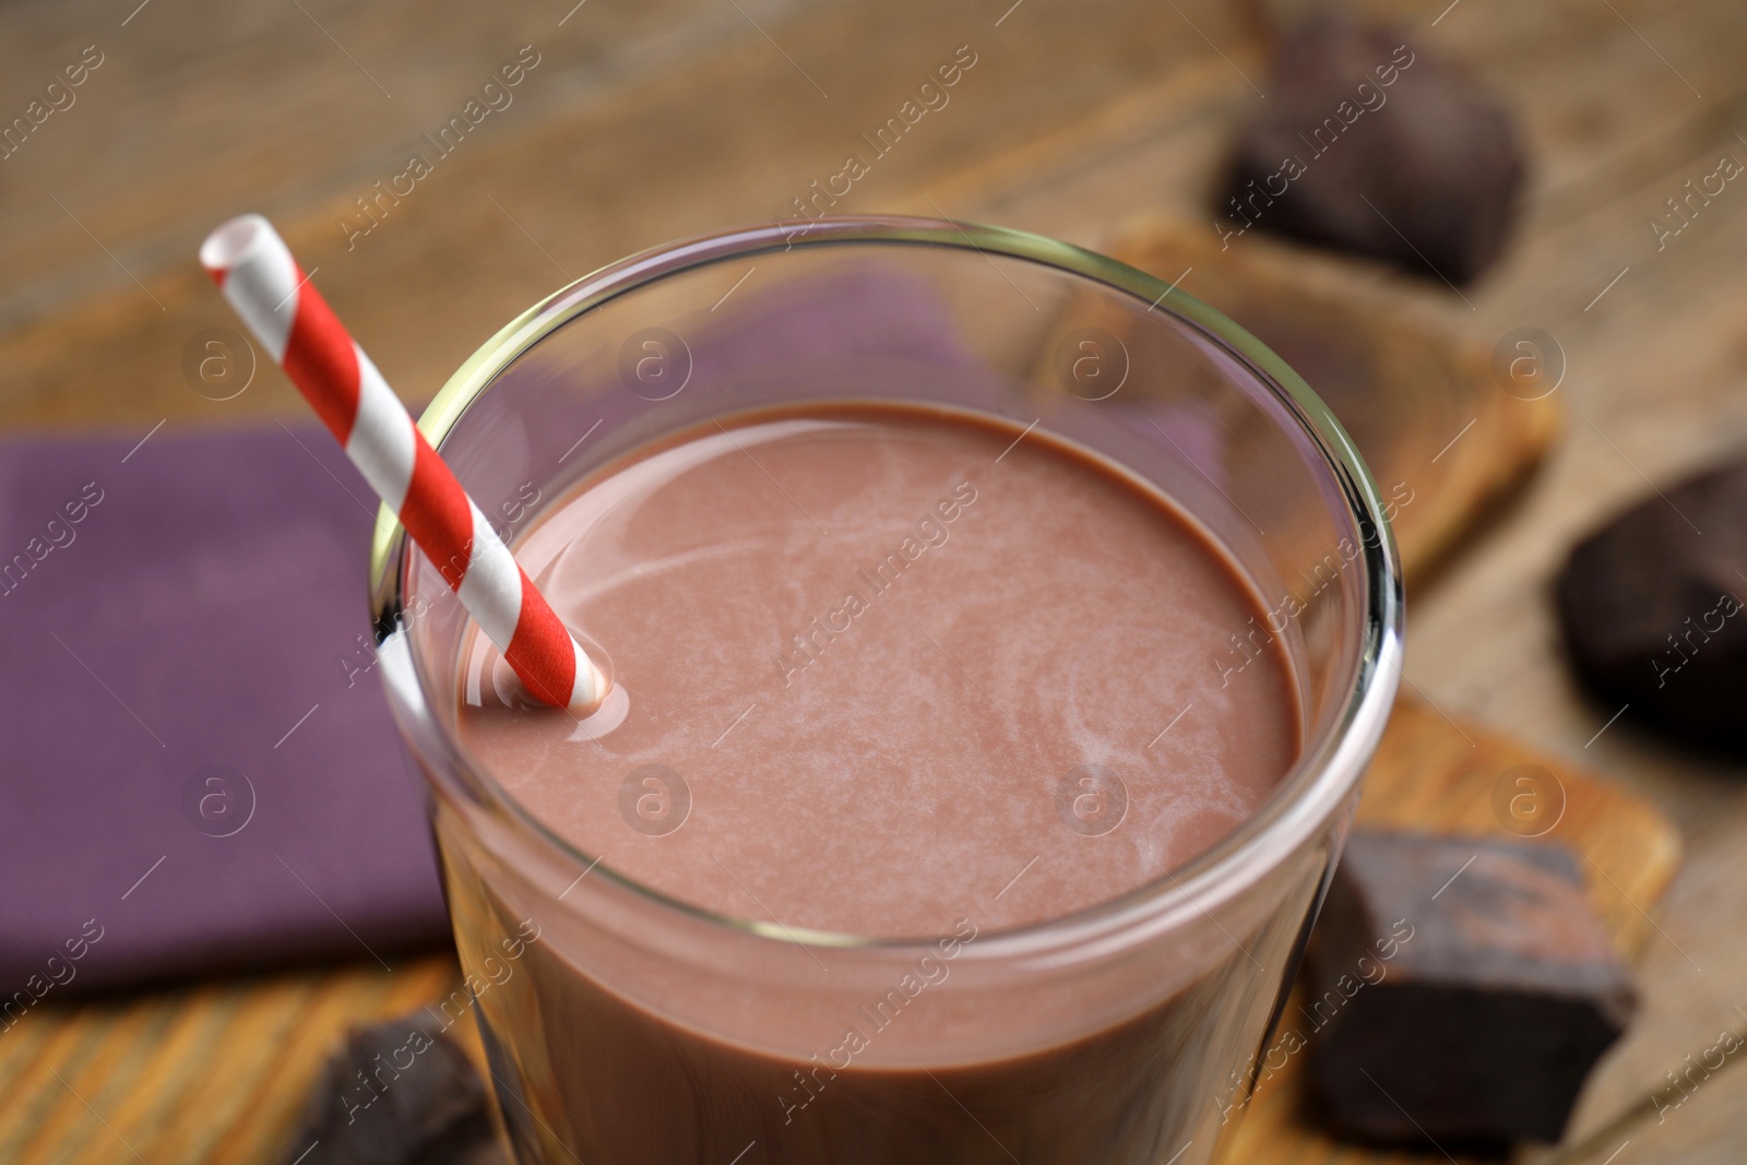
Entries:
{"label": "orange-brown wooden board under the glass and square chocolate cube", "polygon": [[[1647,802],[1555,760],[1403,702],[1359,803],[1364,824],[1501,833],[1492,788],[1541,765],[1564,812],[1544,835],[1586,858],[1590,891],[1623,952],[1679,861],[1674,828]],[[17,1165],[290,1160],[292,1130],[346,1025],[402,1015],[456,989],[449,955],[217,980],[114,1001],[33,1008],[0,1034],[0,1160]],[[458,1024],[475,1062],[477,1034]],[[1295,1057],[1296,1064],[1303,1057]],[[1288,1067],[1258,1092],[1225,1151],[1232,1165],[1384,1165],[1443,1155],[1382,1153],[1331,1139],[1300,1104]],[[287,1149],[293,1151],[281,1156]]]}

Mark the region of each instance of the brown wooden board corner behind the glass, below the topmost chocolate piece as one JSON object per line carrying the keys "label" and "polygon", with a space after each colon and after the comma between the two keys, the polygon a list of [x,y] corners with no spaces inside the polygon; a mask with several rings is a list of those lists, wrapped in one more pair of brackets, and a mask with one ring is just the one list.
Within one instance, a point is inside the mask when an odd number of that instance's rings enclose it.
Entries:
{"label": "brown wooden board corner behind the glass, below the topmost chocolate piece", "polygon": [[1564,367],[1557,342],[1506,337],[1501,360],[1408,306],[1399,276],[1377,264],[1260,232],[1221,246],[1209,224],[1157,213],[1130,220],[1108,250],[1232,316],[1315,389],[1384,496],[1410,500],[1392,519],[1410,580],[1504,500],[1560,431],[1562,396],[1548,388]]}

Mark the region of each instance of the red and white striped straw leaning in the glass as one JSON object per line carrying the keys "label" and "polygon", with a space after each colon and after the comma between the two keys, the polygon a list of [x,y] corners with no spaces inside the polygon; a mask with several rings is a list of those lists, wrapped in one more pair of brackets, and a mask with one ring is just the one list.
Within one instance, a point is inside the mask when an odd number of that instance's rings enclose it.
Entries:
{"label": "red and white striped straw leaning in the glass", "polygon": [[232,218],[201,243],[201,265],[528,692],[582,714],[599,707],[606,676],[535,590],[273,224],[260,215]]}

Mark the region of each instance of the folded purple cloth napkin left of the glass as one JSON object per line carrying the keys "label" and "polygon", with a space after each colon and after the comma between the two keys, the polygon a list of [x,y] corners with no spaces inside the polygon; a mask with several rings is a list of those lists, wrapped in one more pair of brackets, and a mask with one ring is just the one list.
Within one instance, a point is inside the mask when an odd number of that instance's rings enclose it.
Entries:
{"label": "folded purple cloth napkin left of the glass", "polygon": [[318,428],[0,445],[0,1029],[447,934]]}

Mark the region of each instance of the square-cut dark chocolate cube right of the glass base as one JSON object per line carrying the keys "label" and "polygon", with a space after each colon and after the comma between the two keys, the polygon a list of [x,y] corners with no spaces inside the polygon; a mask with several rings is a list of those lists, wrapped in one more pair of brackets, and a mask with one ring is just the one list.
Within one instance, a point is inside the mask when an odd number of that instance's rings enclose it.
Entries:
{"label": "square-cut dark chocolate cube right of the glass base", "polygon": [[1558,1141],[1637,1003],[1578,859],[1527,842],[1354,833],[1310,959],[1312,1083],[1378,1141]]}

